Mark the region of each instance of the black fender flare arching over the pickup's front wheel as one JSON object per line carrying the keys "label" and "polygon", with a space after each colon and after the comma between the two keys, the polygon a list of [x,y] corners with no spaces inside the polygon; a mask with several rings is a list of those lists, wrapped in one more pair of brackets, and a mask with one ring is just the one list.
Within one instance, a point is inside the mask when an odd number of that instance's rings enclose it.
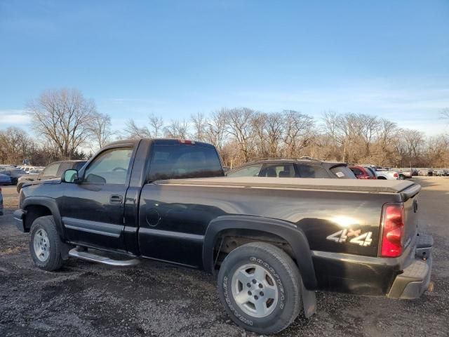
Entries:
{"label": "black fender flare arching over the pickup's front wheel", "polygon": [[40,218],[41,216],[53,216],[56,231],[61,239],[65,239],[65,231],[62,226],[58,204],[56,204],[55,199],[49,197],[27,197],[27,199],[22,202],[21,208],[25,211],[23,220],[26,232],[29,232],[32,223],[36,218]]}

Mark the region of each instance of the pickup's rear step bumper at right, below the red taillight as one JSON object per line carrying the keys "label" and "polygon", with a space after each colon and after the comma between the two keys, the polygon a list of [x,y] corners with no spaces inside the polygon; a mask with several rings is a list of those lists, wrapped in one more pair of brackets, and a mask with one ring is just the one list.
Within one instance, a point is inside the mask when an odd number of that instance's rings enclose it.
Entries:
{"label": "pickup's rear step bumper at right, below the red taillight", "polygon": [[434,239],[431,235],[420,235],[415,249],[415,260],[396,276],[387,296],[413,300],[427,290],[430,282]]}

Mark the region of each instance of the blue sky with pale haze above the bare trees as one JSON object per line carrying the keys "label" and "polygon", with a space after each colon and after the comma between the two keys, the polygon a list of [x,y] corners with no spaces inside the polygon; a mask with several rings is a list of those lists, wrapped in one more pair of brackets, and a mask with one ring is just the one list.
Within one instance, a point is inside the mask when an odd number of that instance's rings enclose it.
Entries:
{"label": "blue sky with pale haze above the bare trees", "polygon": [[0,129],[78,88],[115,130],[221,107],[448,126],[449,0],[0,0]]}

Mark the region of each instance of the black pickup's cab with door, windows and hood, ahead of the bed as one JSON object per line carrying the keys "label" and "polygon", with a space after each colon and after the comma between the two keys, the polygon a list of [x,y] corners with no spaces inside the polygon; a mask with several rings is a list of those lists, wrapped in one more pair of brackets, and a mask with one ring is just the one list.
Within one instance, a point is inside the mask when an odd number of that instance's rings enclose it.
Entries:
{"label": "black pickup's cab with door, windows and hood, ahead of the bed", "polygon": [[[25,204],[53,199],[69,244],[139,254],[138,206],[142,186],[154,180],[224,176],[213,145],[189,140],[120,140],[104,147],[62,181],[26,186]],[[58,188],[55,188],[55,184]],[[31,197],[30,193],[46,197]],[[32,209],[27,213],[39,211]],[[34,216],[25,217],[25,228]]]}

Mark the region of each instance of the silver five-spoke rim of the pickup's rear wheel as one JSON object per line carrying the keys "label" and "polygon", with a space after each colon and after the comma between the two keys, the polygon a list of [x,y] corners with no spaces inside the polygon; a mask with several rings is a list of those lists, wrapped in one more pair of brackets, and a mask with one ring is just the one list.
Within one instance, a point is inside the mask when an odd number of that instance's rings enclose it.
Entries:
{"label": "silver five-spoke rim of the pickup's rear wheel", "polygon": [[248,264],[234,272],[232,296],[247,315],[266,317],[276,308],[279,290],[274,278],[264,267]]}

